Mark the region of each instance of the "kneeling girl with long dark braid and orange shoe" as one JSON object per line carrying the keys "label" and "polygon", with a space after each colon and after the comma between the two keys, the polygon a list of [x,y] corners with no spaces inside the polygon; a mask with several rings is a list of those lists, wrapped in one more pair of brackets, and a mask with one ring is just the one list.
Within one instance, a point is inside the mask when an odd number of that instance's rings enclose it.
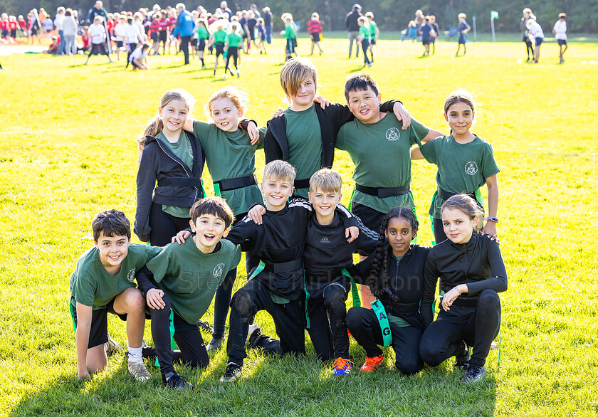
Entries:
{"label": "kneeling girl with long dark braid and orange shoe", "polygon": [[347,327],[367,355],[362,373],[382,364],[381,344],[392,345],[394,366],[403,374],[416,374],[424,367],[419,356],[424,332],[419,304],[430,248],[411,244],[418,226],[413,210],[394,207],[384,216],[376,251],[350,270],[355,282],[369,285],[377,297],[372,310],[352,307],[347,312]]}

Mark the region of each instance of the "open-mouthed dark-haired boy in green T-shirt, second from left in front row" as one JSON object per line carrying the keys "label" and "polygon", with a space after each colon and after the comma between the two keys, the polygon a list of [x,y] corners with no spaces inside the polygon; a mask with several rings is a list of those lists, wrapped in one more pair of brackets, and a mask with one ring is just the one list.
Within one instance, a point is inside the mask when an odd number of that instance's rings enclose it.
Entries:
{"label": "open-mouthed dark-haired boy in green T-shirt, second from left in front row", "polygon": [[[208,352],[197,322],[210,307],[226,273],[241,260],[240,248],[221,240],[234,221],[224,199],[207,197],[196,201],[189,215],[194,237],[164,248],[137,277],[152,314],[152,337],[162,382],[177,390],[193,386],[174,370],[173,359],[180,358],[192,367],[208,366]],[[171,315],[172,337],[180,349],[174,352],[170,350]]]}

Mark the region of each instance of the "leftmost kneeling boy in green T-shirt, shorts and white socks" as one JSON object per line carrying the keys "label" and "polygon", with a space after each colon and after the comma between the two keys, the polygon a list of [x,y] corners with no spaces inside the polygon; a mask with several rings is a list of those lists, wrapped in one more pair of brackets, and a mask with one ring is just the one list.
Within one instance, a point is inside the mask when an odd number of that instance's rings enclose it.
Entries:
{"label": "leftmost kneeling boy in green T-shirt, shorts and white socks", "polygon": [[130,243],[131,225],[122,211],[100,211],[92,223],[94,248],[77,261],[70,277],[70,315],[75,326],[77,376],[107,365],[107,313],[127,321],[128,369],[137,381],[151,378],[142,361],[145,301],[135,273],[162,248]]}

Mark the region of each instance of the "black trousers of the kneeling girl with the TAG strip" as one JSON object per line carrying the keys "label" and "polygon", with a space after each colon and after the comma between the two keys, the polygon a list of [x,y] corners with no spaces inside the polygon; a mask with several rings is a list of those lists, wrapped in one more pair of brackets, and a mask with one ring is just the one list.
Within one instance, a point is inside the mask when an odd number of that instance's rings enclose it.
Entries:
{"label": "black trousers of the kneeling girl with the TAG strip", "polygon": [[[421,330],[413,326],[399,327],[390,324],[392,334],[392,349],[394,350],[394,366],[405,375],[416,374],[424,369],[424,361],[419,356],[419,341]],[[382,354],[382,329],[374,310],[364,307],[351,307],[347,312],[347,327],[357,343],[364,349],[367,357],[377,357]]]}

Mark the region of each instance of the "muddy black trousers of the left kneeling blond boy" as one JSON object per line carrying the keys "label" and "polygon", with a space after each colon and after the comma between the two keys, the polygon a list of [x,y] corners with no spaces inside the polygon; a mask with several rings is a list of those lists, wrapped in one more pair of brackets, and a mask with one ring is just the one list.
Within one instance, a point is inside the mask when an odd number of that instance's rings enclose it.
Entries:
{"label": "muddy black trousers of the left kneeling blond boy", "polygon": [[270,291],[258,278],[253,278],[231,300],[231,320],[229,339],[226,341],[226,354],[229,361],[243,365],[247,357],[245,341],[249,322],[260,310],[266,310],[273,318],[278,341],[263,337],[253,347],[262,347],[269,353],[305,354],[305,301],[290,300],[287,304],[277,304],[272,300]]}

